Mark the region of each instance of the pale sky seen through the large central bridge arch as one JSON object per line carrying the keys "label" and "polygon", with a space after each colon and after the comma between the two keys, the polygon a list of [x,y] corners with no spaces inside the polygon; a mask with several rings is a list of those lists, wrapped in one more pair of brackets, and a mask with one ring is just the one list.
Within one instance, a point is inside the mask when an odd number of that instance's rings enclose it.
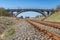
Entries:
{"label": "pale sky seen through the large central bridge arch", "polygon": [[27,12],[22,12],[19,15],[17,15],[17,17],[21,17],[23,16],[23,18],[29,17],[29,18],[35,18],[35,17],[39,17],[42,14],[39,12],[35,12],[35,11],[27,11]]}

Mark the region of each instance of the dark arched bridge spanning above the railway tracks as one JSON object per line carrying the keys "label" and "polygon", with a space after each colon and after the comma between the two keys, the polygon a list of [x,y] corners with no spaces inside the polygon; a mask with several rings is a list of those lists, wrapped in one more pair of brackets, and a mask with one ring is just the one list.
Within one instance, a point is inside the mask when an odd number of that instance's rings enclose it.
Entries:
{"label": "dark arched bridge spanning above the railway tracks", "polygon": [[[17,12],[17,15],[22,13],[22,12],[27,12],[27,11],[34,11],[34,12],[38,12],[41,13],[43,16],[49,16],[52,12],[51,9],[6,9],[6,11],[11,12],[13,15],[13,12]],[[46,15],[47,13],[47,15]],[[16,15],[16,16],[17,16]]]}

